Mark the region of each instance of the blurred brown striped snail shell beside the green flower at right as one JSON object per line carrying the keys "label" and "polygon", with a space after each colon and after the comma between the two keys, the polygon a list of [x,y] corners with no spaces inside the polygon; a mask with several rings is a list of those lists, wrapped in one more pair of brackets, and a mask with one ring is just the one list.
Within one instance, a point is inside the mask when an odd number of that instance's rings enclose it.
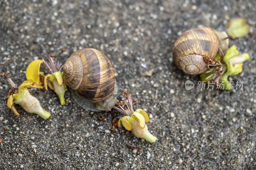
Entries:
{"label": "blurred brown striped snail shell beside the green flower at right", "polygon": [[185,31],[174,43],[172,49],[174,62],[187,74],[201,74],[207,69],[203,57],[213,60],[219,44],[218,36],[211,28]]}

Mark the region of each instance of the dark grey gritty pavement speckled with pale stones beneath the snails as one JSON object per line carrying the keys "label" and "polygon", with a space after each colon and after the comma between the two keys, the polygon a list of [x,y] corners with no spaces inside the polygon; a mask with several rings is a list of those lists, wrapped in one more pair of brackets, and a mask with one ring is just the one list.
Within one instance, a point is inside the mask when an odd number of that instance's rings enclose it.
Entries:
{"label": "dark grey gritty pavement speckled with pale stones beneath the snails", "polygon": [[[32,89],[49,119],[18,105],[16,116],[5,104],[10,86],[0,78],[0,169],[255,169],[255,36],[231,42],[251,57],[231,76],[244,81],[243,89],[187,91],[185,81],[199,76],[183,73],[172,59],[175,40],[188,29],[223,30],[230,18],[243,17],[255,31],[255,6],[254,0],[1,0],[1,73],[20,84],[40,56],[56,54],[64,63],[78,49],[99,49],[118,87],[150,115],[148,128],[158,141],[152,145],[124,128],[111,131],[114,111],[84,110],[68,90],[61,106],[52,90]],[[152,68],[151,77],[140,75]]]}

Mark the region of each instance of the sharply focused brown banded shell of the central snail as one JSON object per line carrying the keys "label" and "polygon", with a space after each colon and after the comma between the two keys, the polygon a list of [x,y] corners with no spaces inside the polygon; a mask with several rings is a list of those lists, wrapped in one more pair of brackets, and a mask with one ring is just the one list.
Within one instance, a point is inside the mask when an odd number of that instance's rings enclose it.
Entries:
{"label": "sharply focused brown banded shell of the central snail", "polygon": [[84,48],[71,54],[63,66],[63,73],[67,85],[84,100],[100,102],[114,92],[114,69],[99,50]]}

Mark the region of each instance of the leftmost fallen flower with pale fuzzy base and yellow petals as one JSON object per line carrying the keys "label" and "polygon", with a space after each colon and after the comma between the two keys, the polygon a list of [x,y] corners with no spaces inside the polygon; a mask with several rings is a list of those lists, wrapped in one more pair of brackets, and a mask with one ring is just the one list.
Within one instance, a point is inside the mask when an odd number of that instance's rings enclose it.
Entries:
{"label": "leftmost fallen flower with pale fuzzy base and yellow petals", "polygon": [[30,94],[28,86],[34,84],[33,80],[25,80],[23,83],[17,86],[6,74],[2,73],[1,76],[5,76],[5,78],[12,85],[12,89],[6,96],[6,103],[8,108],[12,109],[16,115],[19,115],[19,113],[13,106],[14,103],[19,104],[27,112],[36,113],[44,119],[47,119],[51,116],[49,112],[41,107],[37,98]]}

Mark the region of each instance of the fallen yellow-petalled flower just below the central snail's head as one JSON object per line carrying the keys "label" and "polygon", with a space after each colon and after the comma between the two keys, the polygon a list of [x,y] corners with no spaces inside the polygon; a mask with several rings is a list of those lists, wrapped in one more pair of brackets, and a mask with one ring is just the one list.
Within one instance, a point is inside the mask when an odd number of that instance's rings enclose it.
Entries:
{"label": "fallen yellow-petalled flower just below the central snail's head", "polygon": [[113,107],[124,114],[124,117],[118,120],[118,127],[121,128],[123,125],[126,130],[132,131],[133,135],[137,138],[144,138],[154,143],[157,138],[148,131],[146,124],[149,121],[148,114],[142,109],[134,111],[132,106],[133,100],[127,90],[125,91],[125,95],[127,97],[124,97],[124,101],[121,101]]}

